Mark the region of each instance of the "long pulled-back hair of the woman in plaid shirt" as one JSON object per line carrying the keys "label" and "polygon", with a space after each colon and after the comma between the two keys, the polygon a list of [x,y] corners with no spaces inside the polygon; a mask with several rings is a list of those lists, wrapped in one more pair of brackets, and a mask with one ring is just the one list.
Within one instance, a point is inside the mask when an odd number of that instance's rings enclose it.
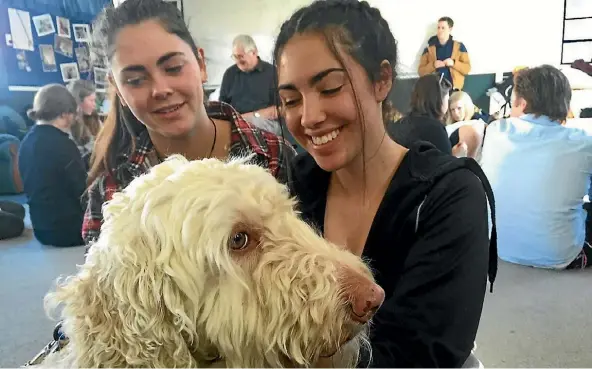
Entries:
{"label": "long pulled-back hair of the woman in plaid shirt", "polygon": [[[109,62],[115,53],[118,33],[130,25],[155,20],[169,33],[185,41],[199,59],[198,47],[191,37],[183,15],[175,4],[162,0],[126,0],[118,7],[108,6],[99,14],[93,24],[93,58]],[[149,37],[149,36],[148,36]],[[97,136],[91,158],[88,184],[101,174],[112,172],[117,156],[135,149],[136,138],[146,130],[127,107],[123,107],[119,96],[110,92],[111,109],[101,132]]]}

